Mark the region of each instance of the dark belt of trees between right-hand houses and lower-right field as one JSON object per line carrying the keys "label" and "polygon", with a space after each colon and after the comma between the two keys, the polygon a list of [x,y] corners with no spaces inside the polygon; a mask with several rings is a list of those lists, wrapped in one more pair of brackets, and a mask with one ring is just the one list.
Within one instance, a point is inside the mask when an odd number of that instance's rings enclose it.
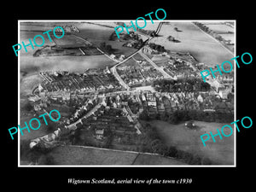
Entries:
{"label": "dark belt of trees between right-hand houses and lower-right field", "polygon": [[140,113],[139,119],[142,120],[163,120],[171,124],[178,124],[187,120],[200,120],[207,122],[219,122],[219,123],[230,123],[234,119],[233,113],[215,111],[215,112],[204,112],[201,110],[176,110],[173,113],[150,113],[146,110]]}

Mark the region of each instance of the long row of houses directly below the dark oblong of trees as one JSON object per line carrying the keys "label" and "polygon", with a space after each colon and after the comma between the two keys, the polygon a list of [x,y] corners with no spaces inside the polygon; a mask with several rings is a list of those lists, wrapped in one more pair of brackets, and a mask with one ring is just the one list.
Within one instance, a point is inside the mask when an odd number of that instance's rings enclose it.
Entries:
{"label": "long row of houses directly below the dark oblong of trees", "polygon": [[[109,97],[111,99],[109,99]],[[214,92],[137,92],[134,94],[120,94],[108,96],[108,105],[112,108],[123,108],[124,105],[138,116],[143,110],[152,113],[172,113],[175,110],[218,110],[217,106],[224,105],[224,101]],[[226,111],[234,108],[226,108]]]}

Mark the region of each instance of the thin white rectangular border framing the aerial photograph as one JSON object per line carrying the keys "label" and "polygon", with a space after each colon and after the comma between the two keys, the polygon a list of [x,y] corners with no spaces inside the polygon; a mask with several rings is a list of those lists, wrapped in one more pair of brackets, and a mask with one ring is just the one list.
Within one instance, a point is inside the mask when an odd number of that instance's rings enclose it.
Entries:
{"label": "thin white rectangular border framing the aerial photograph", "polygon": [[[113,21],[125,21],[125,22],[131,22],[131,20],[18,20],[18,42],[20,42],[20,22],[92,22],[92,21],[100,21],[100,22],[113,22]],[[147,20],[147,21],[150,21],[150,20]],[[154,20],[156,22],[160,22],[160,20]],[[206,21],[217,21],[217,22],[221,22],[221,21],[232,21],[235,23],[234,25],[234,36],[235,36],[235,40],[234,40],[234,44],[235,44],[235,50],[234,50],[234,56],[236,56],[236,20],[163,20],[163,21],[170,21],[170,22],[193,22],[193,21],[203,21],[203,22],[206,22]],[[203,32],[203,31],[202,31]],[[207,34],[207,32],[204,32]],[[210,36],[209,34],[207,34],[208,36]],[[212,36],[210,36],[212,38]],[[214,38],[214,40],[216,40]],[[216,40],[217,41],[217,40]],[[218,41],[217,41],[218,42]],[[218,42],[218,44],[220,44]],[[223,47],[224,45],[221,44]],[[224,47],[225,48],[225,47]],[[227,48],[225,48],[227,49]],[[229,50],[229,49],[228,49]],[[229,50],[230,52],[230,50]],[[233,54],[233,53],[232,53]],[[234,64],[235,64],[235,61],[234,61]],[[236,65],[234,65],[236,66]],[[234,110],[234,121],[236,120],[236,67],[235,67],[235,71],[234,71],[234,74],[235,74],[235,80],[234,80],[234,86],[235,86],[235,110]],[[18,52],[18,123],[20,125],[20,52]],[[234,125],[234,130],[235,129],[235,125]],[[86,146],[84,146],[86,147]],[[99,149],[106,149],[106,148],[99,148]],[[115,150],[115,149],[111,149],[111,150]],[[117,150],[118,151],[118,150]],[[121,151],[121,150],[120,150]],[[129,152],[129,151],[125,151],[125,152]],[[137,153],[137,152],[132,152],[132,153]],[[144,154],[144,153],[142,153]],[[145,153],[147,154],[147,153]],[[174,158],[174,160],[176,160]],[[61,166],[28,166],[28,165],[20,165],[20,134],[18,134],[18,167],[236,167],[236,131],[234,131],[234,165],[216,165],[216,166],[191,166],[191,165],[188,165],[188,166],[185,166],[185,165],[180,165],[180,166],[175,166],[175,165],[162,165],[162,166],[157,166],[157,165],[154,165],[154,166],[143,166],[143,165],[134,165],[134,166],[131,166],[131,165],[115,165],[115,166],[110,166],[110,165],[93,165],[93,166],[89,166],[89,165],[79,165],[79,166],[75,166],[75,165],[61,165]]]}

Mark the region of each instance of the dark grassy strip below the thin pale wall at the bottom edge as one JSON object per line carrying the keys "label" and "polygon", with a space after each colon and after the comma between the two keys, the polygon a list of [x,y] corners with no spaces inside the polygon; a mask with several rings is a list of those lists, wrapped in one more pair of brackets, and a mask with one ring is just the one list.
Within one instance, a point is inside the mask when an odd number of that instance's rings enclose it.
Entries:
{"label": "dark grassy strip below the thin pale wall at the bottom edge", "polygon": [[101,148],[59,146],[50,155],[55,165],[184,165],[183,162],[154,154],[138,154],[127,151],[106,150]]}

